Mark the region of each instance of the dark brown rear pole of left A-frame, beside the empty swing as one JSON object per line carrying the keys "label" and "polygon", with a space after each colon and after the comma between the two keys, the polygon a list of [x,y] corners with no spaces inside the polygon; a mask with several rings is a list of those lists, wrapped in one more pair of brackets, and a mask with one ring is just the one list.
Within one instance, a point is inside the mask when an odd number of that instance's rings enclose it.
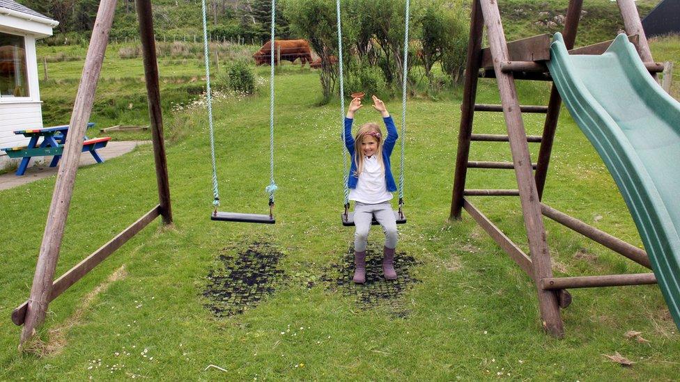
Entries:
{"label": "dark brown rear pole of left A-frame, beside the empty swing", "polygon": [[156,60],[156,42],[153,35],[153,11],[150,0],[137,0],[137,16],[139,18],[139,34],[144,52],[144,78],[146,79],[146,95],[148,97],[149,121],[153,141],[153,159],[156,166],[156,183],[161,215],[164,224],[172,223],[170,205],[170,182],[168,164],[165,156],[163,137],[163,115],[160,107],[160,88],[158,83],[158,63]]}

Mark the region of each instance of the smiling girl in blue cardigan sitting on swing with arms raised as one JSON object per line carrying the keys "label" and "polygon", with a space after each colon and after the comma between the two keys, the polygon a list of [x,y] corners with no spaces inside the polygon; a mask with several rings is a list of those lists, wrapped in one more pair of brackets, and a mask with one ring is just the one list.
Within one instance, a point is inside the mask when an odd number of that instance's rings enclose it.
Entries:
{"label": "smiling girl in blue cardigan sitting on swing with arms raised", "polygon": [[383,101],[373,95],[373,108],[383,116],[387,137],[383,138],[380,126],[369,122],[362,125],[353,138],[354,113],[361,108],[361,98],[357,97],[350,103],[345,118],[345,145],[352,156],[347,186],[350,189],[349,199],[355,201],[354,223],[357,230],[354,234],[356,269],[353,281],[357,284],[366,281],[366,239],[369,236],[373,216],[385,231],[383,273],[387,280],[396,280],[394,248],[397,239],[396,218],[389,203],[392,191],[396,191],[392,170],[389,167],[389,156],[397,138],[396,127]]}

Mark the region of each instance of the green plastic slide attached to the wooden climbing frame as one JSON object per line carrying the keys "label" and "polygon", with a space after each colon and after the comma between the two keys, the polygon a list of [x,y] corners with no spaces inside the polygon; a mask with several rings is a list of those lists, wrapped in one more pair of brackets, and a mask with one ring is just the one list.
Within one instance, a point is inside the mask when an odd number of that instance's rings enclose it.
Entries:
{"label": "green plastic slide attached to the wooden climbing frame", "polygon": [[680,102],[658,86],[624,34],[601,55],[569,55],[556,33],[548,68],[619,186],[680,328]]}

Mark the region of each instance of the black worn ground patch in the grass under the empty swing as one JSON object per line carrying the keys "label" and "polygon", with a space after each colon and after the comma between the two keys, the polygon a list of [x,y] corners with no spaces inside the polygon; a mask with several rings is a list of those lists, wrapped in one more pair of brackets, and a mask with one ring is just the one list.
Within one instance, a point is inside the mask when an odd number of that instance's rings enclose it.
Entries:
{"label": "black worn ground patch in the grass under the empty swing", "polygon": [[206,308],[217,317],[239,315],[255,308],[273,294],[285,273],[279,268],[284,254],[272,244],[256,242],[240,252],[233,248],[220,251],[208,271],[208,285],[203,289]]}

